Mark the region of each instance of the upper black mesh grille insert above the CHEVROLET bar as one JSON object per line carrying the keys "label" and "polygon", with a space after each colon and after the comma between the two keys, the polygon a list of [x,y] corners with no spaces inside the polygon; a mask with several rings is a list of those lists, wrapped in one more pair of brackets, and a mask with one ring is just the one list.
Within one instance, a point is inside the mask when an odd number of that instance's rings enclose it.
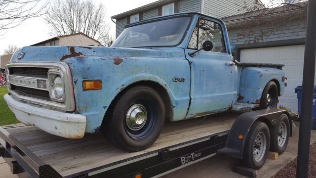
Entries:
{"label": "upper black mesh grille insert above the CHEVROLET bar", "polygon": [[12,67],[9,68],[10,75],[36,76],[47,78],[48,68],[40,67]]}

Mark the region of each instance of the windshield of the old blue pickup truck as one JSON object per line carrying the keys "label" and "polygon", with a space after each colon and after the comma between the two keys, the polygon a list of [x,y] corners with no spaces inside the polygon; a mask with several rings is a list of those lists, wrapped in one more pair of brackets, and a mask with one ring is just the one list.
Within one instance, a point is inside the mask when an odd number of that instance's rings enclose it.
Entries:
{"label": "windshield of the old blue pickup truck", "polygon": [[114,47],[174,46],[181,42],[191,17],[176,17],[126,28]]}

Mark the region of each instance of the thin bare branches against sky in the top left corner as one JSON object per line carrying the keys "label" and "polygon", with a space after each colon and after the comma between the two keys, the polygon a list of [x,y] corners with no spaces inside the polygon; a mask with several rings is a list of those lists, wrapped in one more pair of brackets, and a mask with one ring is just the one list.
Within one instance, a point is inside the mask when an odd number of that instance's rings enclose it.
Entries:
{"label": "thin bare branches against sky in the top left corner", "polygon": [[45,0],[0,0],[0,31],[42,15],[47,4]]}

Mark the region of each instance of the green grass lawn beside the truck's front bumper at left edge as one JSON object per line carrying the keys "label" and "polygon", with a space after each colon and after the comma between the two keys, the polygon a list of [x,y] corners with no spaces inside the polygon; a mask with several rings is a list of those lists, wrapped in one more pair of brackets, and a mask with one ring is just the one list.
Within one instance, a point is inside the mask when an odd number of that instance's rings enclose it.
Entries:
{"label": "green grass lawn beside the truck's front bumper at left edge", "polygon": [[6,93],[8,93],[7,88],[0,87],[0,126],[19,123],[3,99],[3,95]]}

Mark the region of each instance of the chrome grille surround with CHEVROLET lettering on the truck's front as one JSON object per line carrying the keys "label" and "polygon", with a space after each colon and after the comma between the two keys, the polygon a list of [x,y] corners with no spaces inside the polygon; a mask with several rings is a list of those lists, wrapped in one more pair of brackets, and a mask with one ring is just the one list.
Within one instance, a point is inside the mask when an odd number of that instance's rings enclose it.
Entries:
{"label": "chrome grille surround with CHEVROLET lettering on the truck's front", "polygon": [[[75,110],[74,88],[70,68],[65,62],[15,62],[5,66],[8,91],[21,101],[31,102],[64,111]],[[50,97],[53,88],[49,75],[58,74],[64,84],[63,100]],[[46,83],[45,83],[46,82]]]}

